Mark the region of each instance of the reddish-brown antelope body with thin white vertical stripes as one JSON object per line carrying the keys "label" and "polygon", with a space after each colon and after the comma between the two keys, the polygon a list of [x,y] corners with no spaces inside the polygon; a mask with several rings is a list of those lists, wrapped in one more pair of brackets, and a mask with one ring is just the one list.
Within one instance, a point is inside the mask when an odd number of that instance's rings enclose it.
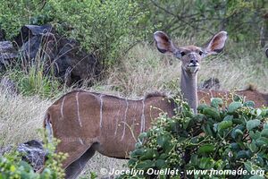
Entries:
{"label": "reddish-brown antelope body with thin white vertical stripes", "polygon": [[[61,142],[57,151],[68,153],[63,168],[91,148],[113,158],[128,158],[140,132],[145,132],[160,112],[174,115],[173,100],[148,95],[129,100],[75,90],[47,109],[45,126],[52,124],[54,137]],[[93,149],[94,148],[94,149]]]}

